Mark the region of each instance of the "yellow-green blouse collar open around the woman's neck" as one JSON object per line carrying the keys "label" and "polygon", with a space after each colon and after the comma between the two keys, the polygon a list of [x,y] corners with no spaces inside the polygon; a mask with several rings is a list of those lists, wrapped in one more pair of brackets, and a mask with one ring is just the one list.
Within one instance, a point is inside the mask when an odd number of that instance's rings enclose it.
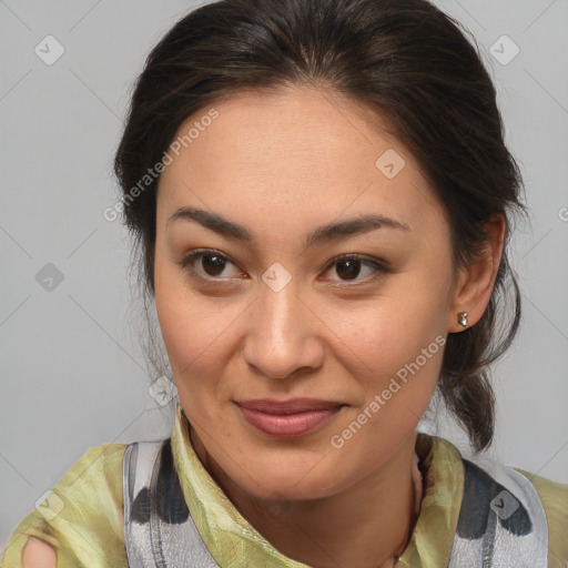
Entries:
{"label": "yellow-green blouse collar open around the woman's neck", "polygon": [[[308,568],[276,550],[235,508],[195,454],[180,403],[172,453],[185,503],[220,566]],[[444,438],[418,433],[416,454],[423,476],[420,513],[396,568],[438,568],[452,552],[464,489],[458,449]]]}

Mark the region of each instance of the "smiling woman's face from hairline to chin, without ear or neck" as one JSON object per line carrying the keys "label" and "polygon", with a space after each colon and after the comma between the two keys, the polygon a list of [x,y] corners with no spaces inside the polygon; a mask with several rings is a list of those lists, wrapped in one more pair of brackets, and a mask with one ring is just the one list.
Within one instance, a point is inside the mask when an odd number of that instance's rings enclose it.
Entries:
{"label": "smiling woman's face from hairline to chin, without ear or neck", "polygon": [[[180,128],[160,179],[155,301],[192,440],[260,498],[338,494],[414,443],[459,329],[444,212],[369,116],[307,88],[241,92]],[[352,226],[366,216],[390,221]],[[266,398],[344,406],[275,435],[235,403]]]}

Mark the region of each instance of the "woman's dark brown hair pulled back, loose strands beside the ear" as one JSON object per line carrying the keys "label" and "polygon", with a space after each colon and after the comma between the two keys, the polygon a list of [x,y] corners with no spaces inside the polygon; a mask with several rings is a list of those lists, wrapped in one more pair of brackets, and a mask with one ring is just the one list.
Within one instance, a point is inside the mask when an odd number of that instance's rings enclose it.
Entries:
{"label": "woman's dark brown hair pulled back, loose strands beside the ear", "polygon": [[[496,91],[471,41],[426,0],[222,0],[181,19],[148,57],[114,162],[145,293],[154,293],[158,179],[135,199],[131,190],[190,115],[240,89],[312,85],[363,103],[393,125],[445,206],[456,266],[477,257],[493,215],[507,220],[489,304],[476,325],[449,334],[437,388],[476,452],[487,448],[495,428],[488,365],[520,320],[507,244],[511,213],[525,207]],[[515,308],[505,324],[497,307],[507,290]]]}

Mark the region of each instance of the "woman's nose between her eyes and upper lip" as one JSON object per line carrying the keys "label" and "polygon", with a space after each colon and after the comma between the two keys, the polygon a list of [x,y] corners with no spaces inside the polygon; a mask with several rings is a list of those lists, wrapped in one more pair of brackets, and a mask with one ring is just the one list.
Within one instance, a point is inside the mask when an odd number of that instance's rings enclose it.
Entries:
{"label": "woman's nose between her eyes and upper lip", "polygon": [[300,369],[322,366],[325,325],[308,297],[294,278],[283,287],[261,283],[258,298],[250,308],[243,356],[264,376],[288,378]]}

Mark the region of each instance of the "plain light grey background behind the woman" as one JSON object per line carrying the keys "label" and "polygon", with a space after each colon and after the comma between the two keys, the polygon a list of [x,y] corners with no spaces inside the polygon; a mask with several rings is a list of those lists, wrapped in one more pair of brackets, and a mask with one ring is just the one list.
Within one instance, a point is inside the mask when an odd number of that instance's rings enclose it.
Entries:
{"label": "plain light grey background behind the woman", "polygon": [[[495,367],[489,455],[568,483],[568,0],[436,3],[484,52],[531,209],[513,257],[525,320]],[[102,212],[116,201],[111,159],[131,83],[194,6],[0,0],[0,551],[88,448],[170,434],[175,399],[149,395],[129,310],[126,232]],[[48,34],[65,50],[52,65],[34,52]],[[490,51],[503,34],[520,49],[508,64]],[[51,291],[37,280],[49,263],[63,275]],[[465,449],[439,420],[422,429]]]}

